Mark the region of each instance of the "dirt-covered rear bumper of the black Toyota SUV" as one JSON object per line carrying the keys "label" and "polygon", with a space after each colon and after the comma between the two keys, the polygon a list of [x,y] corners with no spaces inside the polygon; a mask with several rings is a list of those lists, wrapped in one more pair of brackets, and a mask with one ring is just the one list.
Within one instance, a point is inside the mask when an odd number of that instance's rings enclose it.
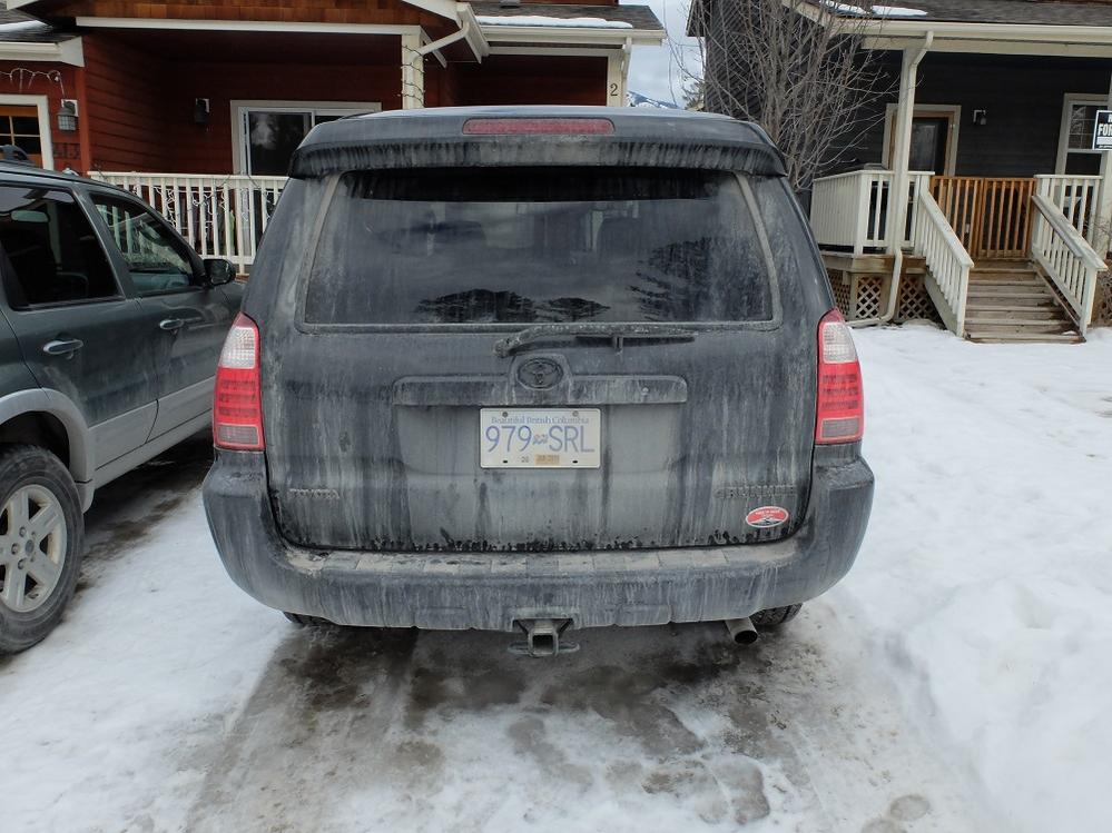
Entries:
{"label": "dirt-covered rear bumper of the black Toyota SUV", "polygon": [[220,452],[205,510],[228,574],[279,611],[343,625],[514,631],[749,616],[824,593],[854,563],[873,504],[857,448],[819,448],[807,516],[783,542],[599,553],[357,553],[293,546],[279,534],[260,453]]}

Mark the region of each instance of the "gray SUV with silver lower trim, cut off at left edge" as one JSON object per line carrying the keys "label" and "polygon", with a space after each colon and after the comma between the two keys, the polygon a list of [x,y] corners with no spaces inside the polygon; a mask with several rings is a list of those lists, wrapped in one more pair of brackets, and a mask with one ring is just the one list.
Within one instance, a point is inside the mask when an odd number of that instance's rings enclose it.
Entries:
{"label": "gray SUV with silver lower trim, cut off at left edge", "polygon": [[234,277],[129,194],[0,163],[0,654],[61,617],[96,489],[209,425]]}

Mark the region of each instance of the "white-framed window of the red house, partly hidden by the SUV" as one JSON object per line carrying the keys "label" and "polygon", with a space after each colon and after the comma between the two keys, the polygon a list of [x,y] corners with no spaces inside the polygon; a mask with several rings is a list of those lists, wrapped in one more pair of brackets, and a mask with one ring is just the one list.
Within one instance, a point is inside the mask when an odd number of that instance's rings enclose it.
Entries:
{"label": "white-framed window of the red house, partly hidden by the SUV", "polygon": [[233,101],[236,111],[236,161],[252,176],[285,176],[289,159],[315,126],[344,116],[375,112],[377,103]]}

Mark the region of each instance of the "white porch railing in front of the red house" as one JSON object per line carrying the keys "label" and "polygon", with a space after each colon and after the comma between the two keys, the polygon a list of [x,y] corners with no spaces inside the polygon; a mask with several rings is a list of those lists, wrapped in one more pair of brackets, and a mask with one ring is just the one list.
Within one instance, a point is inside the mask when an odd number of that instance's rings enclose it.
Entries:
{"label": "white porch railing in front of the red house", "polygon": [[201,257],[222,257],[240,271],[278,204],[285,177],[97,172],[94,179],[131,191],[168,219]]}

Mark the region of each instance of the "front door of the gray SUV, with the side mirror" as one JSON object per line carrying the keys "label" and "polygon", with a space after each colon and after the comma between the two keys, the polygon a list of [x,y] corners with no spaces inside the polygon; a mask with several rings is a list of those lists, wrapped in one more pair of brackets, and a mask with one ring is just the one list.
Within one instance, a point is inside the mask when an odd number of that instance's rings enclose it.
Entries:
{"label": "front door of the gray SUV, with the side mirror", "polygon": [[160,436],[213,406],[213,377],[232,306],[219,287],[205,286],[181,239],[142,204],[115,195],[90,195],[131,278],[158,378]]}

